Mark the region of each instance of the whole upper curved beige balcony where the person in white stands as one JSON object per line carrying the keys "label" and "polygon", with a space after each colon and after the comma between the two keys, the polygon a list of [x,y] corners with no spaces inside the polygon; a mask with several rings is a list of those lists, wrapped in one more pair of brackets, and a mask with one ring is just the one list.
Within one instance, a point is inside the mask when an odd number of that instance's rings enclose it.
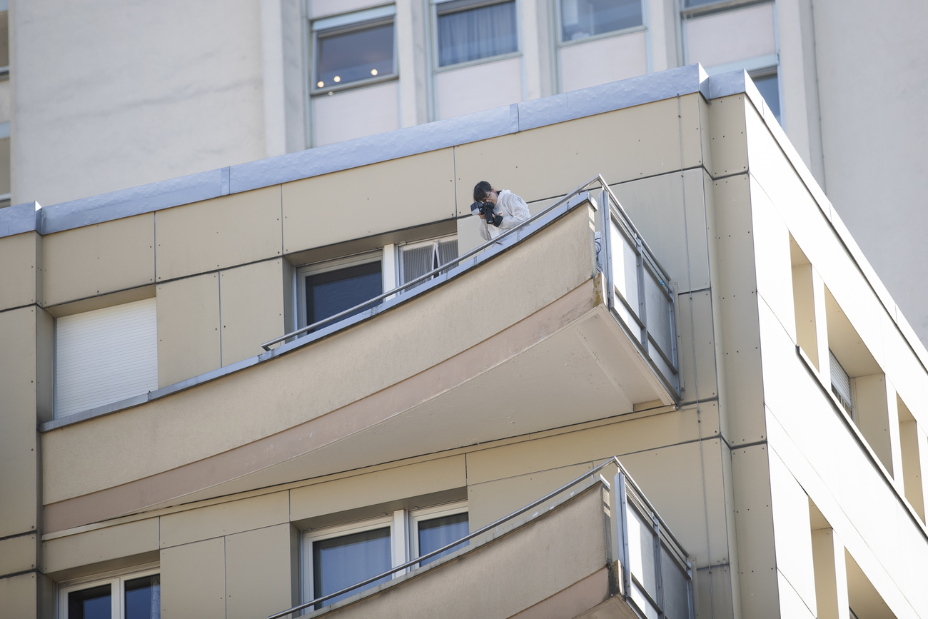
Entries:
{"label": "whole upper curved beige balcony where the person in white stands", "polygon": [[594,177],[360,314],[45,429],[46,530],[676,406],[668,281]]}

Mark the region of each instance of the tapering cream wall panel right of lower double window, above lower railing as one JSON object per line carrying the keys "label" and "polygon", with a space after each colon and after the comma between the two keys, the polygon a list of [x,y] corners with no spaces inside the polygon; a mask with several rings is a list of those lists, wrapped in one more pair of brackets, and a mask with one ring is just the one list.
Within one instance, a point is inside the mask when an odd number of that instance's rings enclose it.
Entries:
{"label": "tapering cream wall panel right of lower double window, above lower railing", "polygon": [[552,490],[557,490],[561,485],[592,468],[591,463],[575,464],[494,482],[468,485],[467,509],[470,531],[476,531],[490,522],[508,516],[516,509],[532,503]]}

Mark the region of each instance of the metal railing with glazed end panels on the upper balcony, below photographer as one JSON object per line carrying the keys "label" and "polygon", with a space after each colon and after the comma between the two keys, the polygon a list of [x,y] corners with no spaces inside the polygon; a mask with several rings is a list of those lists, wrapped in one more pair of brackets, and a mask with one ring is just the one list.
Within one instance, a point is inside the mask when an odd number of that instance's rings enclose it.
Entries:
{"label": "metal railing with glazed end panels on the upper balcony, below photographer", "polygon": [[[591,195],[599,188],[598,200]],[[509,228],[503,234],[474,250],[468,251],[416,277],[402,286],[388,290],[364,303],[359,303],[343,312],[319,320],[302,329],[296,329],[279,338],[264,342],[262,347],[270,351],[274,346],[290,342],[313,332],[329,332],[330,328],[339,328],[354,323],[364,316],[364,312],[376,314],[385,303],[396,303],[397,298],[407,299],[424,290],[421,286],[432,279],[455,277],[468,267],[468,261],[476,264],[482,254],[498,251],[501,246],[522,238],[556,219],[559,210],[569,210],[588,200],[599,212],[597,222],[597,253],[600,270],[606,278],[608,304],[612,316],[618,320],[625,332],[635,342],[640,353],[651,362],[651,367],[658,374],[664,386],[679,396],[679,379],[677,365],[677,323],[675,319],[675,295],[669,282],[670,277],[658,263],[654,252],[638,234],[638,229],[625,213],[619,200],[612,194],[602,175],[597,174],[583,185],[576,187],[561,200],[551,204],[544,211],[535,213],[518,226]],[[602,208],[608,204],[608,208]],[[601,247],[600,247],[601,245]],[[416,290],[419,288],[419,290]]]}

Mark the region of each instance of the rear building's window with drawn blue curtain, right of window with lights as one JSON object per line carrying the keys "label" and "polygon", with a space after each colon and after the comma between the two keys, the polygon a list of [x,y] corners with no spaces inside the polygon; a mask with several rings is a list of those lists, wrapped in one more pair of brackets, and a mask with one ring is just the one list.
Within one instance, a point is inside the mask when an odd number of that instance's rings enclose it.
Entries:
{"label": "rear building's window with drawn blue curtain, right of window with lights", "polygon": [[438,66],[519,50],[516,3],[453,0],[437,5]]}

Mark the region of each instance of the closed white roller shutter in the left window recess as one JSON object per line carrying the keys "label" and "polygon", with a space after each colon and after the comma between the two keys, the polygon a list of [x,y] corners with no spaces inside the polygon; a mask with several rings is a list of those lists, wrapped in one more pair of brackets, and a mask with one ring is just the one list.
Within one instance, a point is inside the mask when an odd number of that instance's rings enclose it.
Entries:
{"label": "closed white roller shutter in the left window recess", "polygon": [[154,299],[58,318],[55,417],[158,388]]}

